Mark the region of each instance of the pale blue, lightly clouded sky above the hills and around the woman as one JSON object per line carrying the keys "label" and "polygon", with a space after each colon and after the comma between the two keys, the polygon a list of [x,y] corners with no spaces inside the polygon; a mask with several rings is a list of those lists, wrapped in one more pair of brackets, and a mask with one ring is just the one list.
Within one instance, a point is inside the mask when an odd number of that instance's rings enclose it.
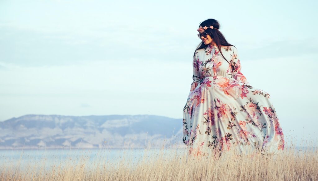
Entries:
{"label": "pale blue, lightly clouded sky above the hills and around the woman", "polygon": [[318,139],[316,1],[0,1],[0,121],[25,114],[180,119],[199,23],[214,18],[283,130]]}

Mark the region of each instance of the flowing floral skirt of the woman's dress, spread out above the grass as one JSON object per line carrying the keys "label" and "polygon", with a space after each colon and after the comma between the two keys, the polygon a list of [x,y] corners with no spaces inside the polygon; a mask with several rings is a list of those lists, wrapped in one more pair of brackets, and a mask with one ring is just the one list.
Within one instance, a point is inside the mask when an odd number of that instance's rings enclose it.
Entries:
{"label": "flowing floral skirt of the woman's dress, spread out above the grass", "polygon": [[183,109],[183,143],[189,153],[232,147],[276,154],[284,134],[270,95],[234,78],[205,77],[191,90]]}

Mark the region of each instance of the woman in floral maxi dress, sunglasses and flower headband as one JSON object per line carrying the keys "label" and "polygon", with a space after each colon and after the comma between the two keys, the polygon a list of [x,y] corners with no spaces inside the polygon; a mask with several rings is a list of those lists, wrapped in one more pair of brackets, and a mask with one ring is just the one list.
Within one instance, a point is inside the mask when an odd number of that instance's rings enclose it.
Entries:
{"label": "woman in floral maxi dress, sunglasses and flower headband", "polygon": [[183,108],[183,143],[189,153],[222,152],[233,146],[272,155],[284,150],[284,134],[270,95],[242,74],[238,50],[219,23],[200,23],[202,40],[193,56],[193,82]]}

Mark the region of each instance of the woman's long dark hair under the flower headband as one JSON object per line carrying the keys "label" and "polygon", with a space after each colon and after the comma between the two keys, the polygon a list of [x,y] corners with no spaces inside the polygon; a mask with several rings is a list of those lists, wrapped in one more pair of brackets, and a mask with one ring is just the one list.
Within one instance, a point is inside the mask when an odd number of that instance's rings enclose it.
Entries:
{"label": "woman's long dark hair under the flower headband", "polygon": [[[209,34],[211,36],[211,38],[213,38],[213,41],[215,42],[215,44],[217,45],[218,49],[220,50],[220,53],[221,55],[223,56],[223,58],[226,60],[226,58],[224,57],[224,55],[222,54],[222,50],[221,50],[221,47],[220,46],[234,46],[230,43],[228,43],[225,39],[225,37],[223,36],[223,34],[219,31],[220,29],[220,24],[218,23],[217,20],[215,19],[207,19],[203,22],[200,22],[200,26],[204,27],[210,27],[210,26],[213,26],[214,28],[217,28],[217,29],[211,29],[211,28],[208,28],[208,29],[205,29],[204,31]],[[197,49],[194,51],[194,54],[195,52],[198,50],[198,49],[202,49],[202,48],[206,48],[208,47],[208,45],[205,45],[202,41],[201,43],[197,46]],[[194,55],[193,55],[194,56]],[[226,60],[227,61],[227,60]],[[227,61],[228,63],[230,63],[229,61]],[[230,63],[231,64],[231,63]]]}

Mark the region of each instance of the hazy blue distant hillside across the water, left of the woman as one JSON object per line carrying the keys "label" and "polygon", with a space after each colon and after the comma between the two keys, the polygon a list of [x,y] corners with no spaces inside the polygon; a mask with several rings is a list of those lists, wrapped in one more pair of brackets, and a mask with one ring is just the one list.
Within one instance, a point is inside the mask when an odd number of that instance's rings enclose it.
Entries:
{"label": "hazy blue distant hillside across the water, left of the woman", "polygon": [[182,119],[155,115],[24,115],[0,122],[0,149],[143,148],[182,142]]}

